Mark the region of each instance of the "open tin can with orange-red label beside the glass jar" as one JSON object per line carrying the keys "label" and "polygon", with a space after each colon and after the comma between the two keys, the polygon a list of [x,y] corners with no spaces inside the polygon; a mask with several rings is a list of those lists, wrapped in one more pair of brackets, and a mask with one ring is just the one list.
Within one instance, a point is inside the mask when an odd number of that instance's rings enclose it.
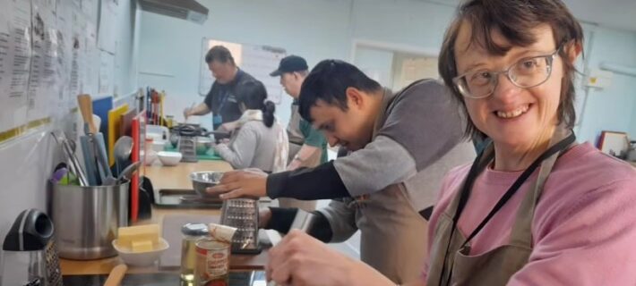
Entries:
{"label": "open tin can with orange-red label beside the glass jar", "polygon": [[194,285],[227,286],[229,283],[230,244],[205,238],[196,242]]}

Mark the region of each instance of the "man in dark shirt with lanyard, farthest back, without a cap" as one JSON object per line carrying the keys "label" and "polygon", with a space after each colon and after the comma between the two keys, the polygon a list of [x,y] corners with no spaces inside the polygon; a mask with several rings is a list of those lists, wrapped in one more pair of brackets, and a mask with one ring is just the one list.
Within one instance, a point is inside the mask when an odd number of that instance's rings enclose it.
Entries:
{"label": "man in dark shirt with lanyard, farthest back, without a cap", "polygon": [[254,80],[254,77],[236,66],[234,57],[225,46],[212,46],[205,55],[205,63],[214,77],[214,83],[208,95],[199,105],[186,108],[184,117],[192,115],[205,115],[210,112],[212,126],[218,129],[226,122],[234,122],[241,117],[241,110],[236,104],[236,90],[241,83]]}

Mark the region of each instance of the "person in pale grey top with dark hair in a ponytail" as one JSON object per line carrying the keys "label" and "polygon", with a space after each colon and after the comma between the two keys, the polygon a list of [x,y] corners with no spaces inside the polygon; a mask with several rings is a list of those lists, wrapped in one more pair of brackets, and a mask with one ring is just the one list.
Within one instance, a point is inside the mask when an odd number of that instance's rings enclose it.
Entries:
{"label": "person in pale grey top with dark hair in a ponytail", "polygon": [[284,171],[288,159],[288,138],[274,116],[276,105],[267,100],[267,90],[261,81],[245,81],[237,88],[240,92],[236,93],[236,103],[243,114],[232,122],[229,142],[220,143],[214,149],[235,169]]}

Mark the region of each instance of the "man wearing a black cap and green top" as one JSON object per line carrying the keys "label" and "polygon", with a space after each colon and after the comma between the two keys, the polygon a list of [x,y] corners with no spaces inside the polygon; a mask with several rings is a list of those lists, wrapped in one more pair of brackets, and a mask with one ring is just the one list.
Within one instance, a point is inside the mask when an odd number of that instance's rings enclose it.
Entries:
{"label": "man wearing a black cap and green top", "polygon": [[[285,92],[289,96],[294,98],[287,128],[289,139],[288,170],[295,170],[298,167],[315,167],[327,162],[327,139],[298,114],[300,87],[309,74],[308,70],[309,67],[304,58],[288,55],[280,60],[279,68],[270,73],[272,77],[280,76],[280,85],[285,88]],[[280,198],[279,202],[280,206],[285,207],[295,206],[305,210],[314,210],[315,208],[315,201]]]}

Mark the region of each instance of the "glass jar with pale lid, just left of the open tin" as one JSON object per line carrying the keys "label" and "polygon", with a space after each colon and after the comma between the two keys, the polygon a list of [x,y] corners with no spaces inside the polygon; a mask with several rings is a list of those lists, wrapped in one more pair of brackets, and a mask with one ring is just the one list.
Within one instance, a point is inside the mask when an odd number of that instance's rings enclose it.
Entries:
{"label": "glass jar with pale lid, just left of the open tin", "polygon": [[181,227],[181,280],[186,284],[194,282],[196,264],[196,241],[208,235],[208,227],[203,223],[187,223]]}

